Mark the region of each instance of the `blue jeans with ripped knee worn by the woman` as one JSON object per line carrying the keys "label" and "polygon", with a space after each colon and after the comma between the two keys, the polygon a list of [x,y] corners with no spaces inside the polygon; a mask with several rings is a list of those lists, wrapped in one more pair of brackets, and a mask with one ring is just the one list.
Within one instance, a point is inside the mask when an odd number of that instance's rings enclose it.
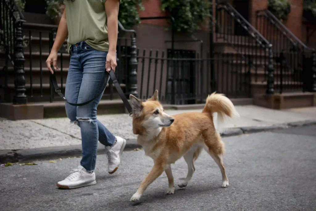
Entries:
{"label": "blue jeans with ripped knee worn by the woman", "polygon": [[[69,102],[82,103],[100,93],[105,80],[107,52],[98,51],[84,41],[70,48],[70,64],[66,80],[65,97]],[[88,171],[95,170],[98,140],[105,146],[112,146],[115,136],[97,120],[97,106],[103,93],[84,106],[65,104],[70,122],[80,127],[82,159],[80,164]]]}

